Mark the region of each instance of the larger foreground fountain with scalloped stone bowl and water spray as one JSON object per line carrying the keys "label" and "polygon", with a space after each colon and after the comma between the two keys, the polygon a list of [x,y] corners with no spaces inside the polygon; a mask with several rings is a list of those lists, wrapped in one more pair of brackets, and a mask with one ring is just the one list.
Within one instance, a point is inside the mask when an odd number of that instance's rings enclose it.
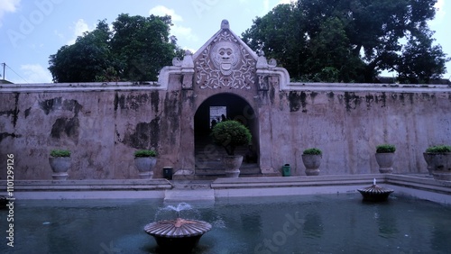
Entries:
{"label": "larger foreground fountain with scalloped stone bowl and water spray", "polygon": [[144,227],[144,231],[152,235],[161,249],[177,253],[189,251],[198,245],[202,235],[211,230],[211,224],[208,222],[180,218],[180,212],[189,209],[192,208],[186,203],[180,203],[177,207],[168,205],[158,213],[173,211],[177,213],[176,218],[149,223]]}

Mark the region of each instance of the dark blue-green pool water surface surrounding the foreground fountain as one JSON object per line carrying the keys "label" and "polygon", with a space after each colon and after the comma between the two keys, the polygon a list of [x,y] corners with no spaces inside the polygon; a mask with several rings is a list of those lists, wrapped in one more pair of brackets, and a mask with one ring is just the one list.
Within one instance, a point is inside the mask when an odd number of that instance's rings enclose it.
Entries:
{"label": "dark blue-green pool water surface surrounding the foreground fountain", "polygon": [[[355,193],[184,205],[190,207],[182,209],[186,216],[213,225],[194,253],[448,253],[451,249],[450,206],[396,195],[382,204],[364,203]],[[143,199],[18,201],[14,249],[3,244],[0,253],[160,253],[143,227],[170,216],[164,214],[165,207],[161,200]],[[173,208],[177,211],[176,204]],[[0,215],[3,226],[7,211]],[[5,230],[1,231],[5,239]]]}

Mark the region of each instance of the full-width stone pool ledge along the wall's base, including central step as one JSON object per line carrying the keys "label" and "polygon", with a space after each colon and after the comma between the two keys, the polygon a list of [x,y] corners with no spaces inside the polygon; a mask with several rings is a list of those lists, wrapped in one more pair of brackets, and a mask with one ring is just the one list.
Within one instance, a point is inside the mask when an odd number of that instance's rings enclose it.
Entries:
{"label": "full-width stone pool ledge along the wall's base, including central step", "polygon": [[[312,195],[357,193],[357,188],[378,185],[390,187],[397,194],[409,195],[442,204],[451,204],[451,182],[437,181],[427,175],[392,174],[325,175],[315,177],[240,177],[208,181],[181,181],[178,188],[170,181],[157,179],[128,180],[16,180],[17,199],[88,199],[88,198],[161,198],[165,201],[215,201],[224,197]],[[7,182],[0,181],[5,192]],[[185,186],[193,184],[196,187]],[[2,194],[3,195],[3,194]]]}

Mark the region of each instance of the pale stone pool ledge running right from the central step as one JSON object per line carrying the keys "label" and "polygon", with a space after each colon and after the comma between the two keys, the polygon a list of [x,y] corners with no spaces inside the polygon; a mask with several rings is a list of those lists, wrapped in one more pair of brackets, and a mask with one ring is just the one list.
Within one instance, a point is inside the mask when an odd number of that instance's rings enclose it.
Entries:
{"label": "pale stone pool ledge running right from the central step", "polygon": [[211,186],[215,189],[216,198],[338,194],[357,193],[358,188],[371,186],[374,178],[377,181],[376,184],[393,188],[400,195],[451,204],[451,182],[405,175],[218,178]]}

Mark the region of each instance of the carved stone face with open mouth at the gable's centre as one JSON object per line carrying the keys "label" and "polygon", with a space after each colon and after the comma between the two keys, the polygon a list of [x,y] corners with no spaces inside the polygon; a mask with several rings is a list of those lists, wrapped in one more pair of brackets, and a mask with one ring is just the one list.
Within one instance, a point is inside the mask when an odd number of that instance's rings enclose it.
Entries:
{"label": "carved stone face with open mouth at the gable's centre", "polygon": [[240,59],[240,51],[234,43],[220,41],[211,50],[211,59],[224,76],[229,76]]}

